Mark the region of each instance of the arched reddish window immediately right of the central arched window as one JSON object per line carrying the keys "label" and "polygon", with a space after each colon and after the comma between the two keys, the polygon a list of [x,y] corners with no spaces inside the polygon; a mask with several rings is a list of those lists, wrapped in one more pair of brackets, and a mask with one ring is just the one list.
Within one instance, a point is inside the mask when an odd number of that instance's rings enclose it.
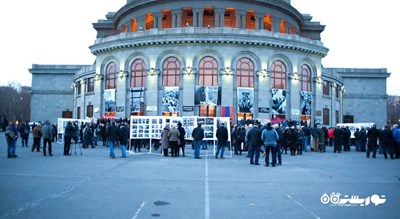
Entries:
{"label": "arched reddish window immediately right of the central arched window", "polygon": [[254,87],[254,64],[248,58],[236,63],[236,87]]}

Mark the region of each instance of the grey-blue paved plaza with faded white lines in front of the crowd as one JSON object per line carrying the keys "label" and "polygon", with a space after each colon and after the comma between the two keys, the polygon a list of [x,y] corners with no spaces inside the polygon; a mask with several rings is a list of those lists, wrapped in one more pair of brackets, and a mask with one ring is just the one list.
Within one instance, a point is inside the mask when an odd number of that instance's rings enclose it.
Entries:
{"label": "grey-blue paved plaza with faded white lines in front of the crowd", "polygon": [[197,160],[190,146],[110,159],[103,146],[63,156],[56,143],[44,157],[17,145],[6,158],[0,133],[0,218],[400,218],[400,160],[354,148],[285,154],[272,168],[211,148]]}

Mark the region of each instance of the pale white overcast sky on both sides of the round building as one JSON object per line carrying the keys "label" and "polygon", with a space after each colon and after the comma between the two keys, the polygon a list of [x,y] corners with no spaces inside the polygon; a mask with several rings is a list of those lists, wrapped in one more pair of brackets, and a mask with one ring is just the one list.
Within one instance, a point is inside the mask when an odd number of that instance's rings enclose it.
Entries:
{"label": "pale white overcast sky on both sides of the round building", "polygon": [[[92,23],[126,0],[1,1],[0,85],[31,86],[32,64],[93,64]],[[400,96],[398,7],[393,0],[292,0],[302,14],[325,25],[326,68],[387,68],[387,93]]]}

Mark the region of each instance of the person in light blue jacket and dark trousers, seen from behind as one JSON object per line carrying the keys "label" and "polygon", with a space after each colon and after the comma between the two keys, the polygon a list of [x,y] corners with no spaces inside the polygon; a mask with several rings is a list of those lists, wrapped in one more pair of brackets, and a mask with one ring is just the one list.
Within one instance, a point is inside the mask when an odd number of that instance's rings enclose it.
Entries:
{"label": "person in light blue jacket and dark trousers, seen from behind", "polygon": [[265,146],[265,166],[269,166],[269,154],[272,157],[272,167],[276,167],[276,149],[279,141],[279,135],[272,128],[271,123],[267,123],[267,128],[261,133],[261,139]]}

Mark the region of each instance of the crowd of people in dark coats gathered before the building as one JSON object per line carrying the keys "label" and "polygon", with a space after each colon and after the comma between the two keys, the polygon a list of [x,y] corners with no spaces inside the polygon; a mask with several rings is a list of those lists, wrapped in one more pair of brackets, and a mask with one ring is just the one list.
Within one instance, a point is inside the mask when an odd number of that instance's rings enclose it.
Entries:
{"label": "crowd of people in dark coats gathered before the building", "polygon": [[[224,159],[225,148],[229,147],[235,155],[242,155],[247,151],[250,164],[260,165],[260,156],[265,159],[265,166],[276,167],[282,165],[282,154],[290,156],[302,155],[303,152],[326,152],[327,146],[333,147],[334,153],[350,151],[351,146],[355,150],[365,152],[366,157],[376,158],[377,153],[383,154],[387,159],[400,158],[400,128],[398,124],[385,125],[378,129],[376,125],[372,127],[361,127],[356,129],[351,137],[349,127],[326,127],[315,124],[309,127],[307,123],[296,124],[284,122],[272,124],[266,122],[261,124],[253,121],[248,124],[239,124],[230,127],[231,141],[229,142],[228,124],[222,123],[217,127],[216,136],[217,148],[216,159]],[[6,128],[6,140],[8,145],[8,158],[16,158],[16,142],[21,139],[22,147],[28,147],[30,131],[33,133],[33,143],[31,151],[42,152],[44,156],[53,156],[52,142],[57,141],[57,125],[51,125],[49,121],[44,123],[34,123],[31,127],[29,121],[15,124],[10,122]],[[99,120],[97,122],[81,123],[67,122],[64,129],[64,152],[63,155],[71,155],[71,144],[81,144],[82,148],[95,148],[98,142],[103,146],[109,147],[110,158],[115,158],[114,149],[121,149],[121,157],[127,156],[127,147],[133,147],[135,152],[140,151],[142,145],[150,147],[149,142],[143,139],[130,139],[130,126],[128,119],[119,120]],[[182,123],[177,126],[166,124],[160,141],[154,141],[155,149],[161,145],[161,153],[164,156],[179,157],[180,152],[185,156],[186,130]],[[204,129],[199,123],[193,129],[191,136],[194,158],[200,159],[200,148],[204,149]],[[43,140],[42,140],[43,139]],[[41,141],[43,143],[41,143]],[[169,151],[170,150],[170,151]],[[270,160],[271,158],[271,160]],[[270,162],[271,161],[271,162]]]}

